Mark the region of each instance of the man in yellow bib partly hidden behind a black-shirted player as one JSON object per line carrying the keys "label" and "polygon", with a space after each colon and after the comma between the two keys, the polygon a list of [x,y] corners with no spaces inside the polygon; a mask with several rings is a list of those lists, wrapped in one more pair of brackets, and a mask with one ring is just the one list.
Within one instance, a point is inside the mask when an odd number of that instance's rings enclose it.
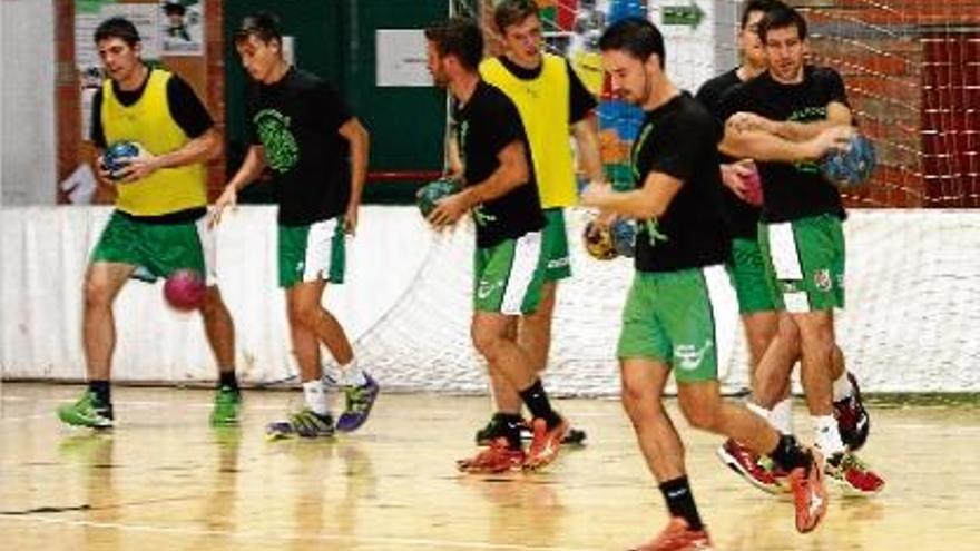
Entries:
{"label": "man in yellow bib partly hidden behind a black-shirted player", "polygon": [[[543,246],[548,264],[541,303],[533,314],[521,317],[517,326],[517,341],[530,352],[535,368],[541,373],[548,364],[558,282],[571,276],[564,209],[578,203],[578,193],[569,135],[575,136],[579,163],[588,178],[605,180],[592,116],[596,99],[565,58],[541,50],[541,19],[533,0],[500,2],[493,22],[503,39],[504,53],[486,59],[480,65],[480,75],[517,106],[528,135],[547,219]],[[477,433],[478,443],[483,444],[520,431],[525,424],[517,391],[500,377],[491,376],[491,381],[497,412]],[[585,436],[582,431],[572,429],[566,442],[580,443]]]}

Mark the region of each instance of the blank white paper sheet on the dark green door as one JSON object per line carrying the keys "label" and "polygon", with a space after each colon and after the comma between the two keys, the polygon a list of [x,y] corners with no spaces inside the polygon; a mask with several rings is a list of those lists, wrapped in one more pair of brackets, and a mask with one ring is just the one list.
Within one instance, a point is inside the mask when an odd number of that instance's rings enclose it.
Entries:
{"label": "blank white paper sheet on the dark green door", "polygon": [[378,29],[378,86],[432,86],[420,29]]}

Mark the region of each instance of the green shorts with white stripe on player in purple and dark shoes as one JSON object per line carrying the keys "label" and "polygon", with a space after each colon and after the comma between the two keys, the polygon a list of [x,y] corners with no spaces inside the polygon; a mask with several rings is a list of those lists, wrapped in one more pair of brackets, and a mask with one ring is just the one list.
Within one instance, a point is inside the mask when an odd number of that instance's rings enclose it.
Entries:
{"label": "green shorts with white stripe on player in purple and dark shoes", "polygon": [[280,287],[301,282],[344,283],[344,218],[278,227]]}

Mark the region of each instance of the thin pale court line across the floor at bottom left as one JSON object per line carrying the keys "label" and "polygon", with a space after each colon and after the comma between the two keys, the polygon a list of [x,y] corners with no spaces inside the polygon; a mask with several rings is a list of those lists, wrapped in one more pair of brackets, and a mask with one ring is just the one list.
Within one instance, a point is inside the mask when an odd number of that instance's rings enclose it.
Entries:
{"label": "thin pale court line across the floor at bottom left", "polygon": [[354,544],[374,543],[386,545],[411,545],[421,548],[437,549],[483,549],[494,551],[594,551],[597,548],[560,548],[560,547],[539,547],[539,545],[519,545],[510,543],[484,543],[478,541],[451,541],[451,540],[430,540],[422,538],[371,538],[357,535],[337,535],[337,534],[314,534],[314,535],[293,535],[277,534],[273,532],[254,532],[254,531],[233,531],[233,530],[205,530],[195,528],[180,527],[150,527],[146,524],[121,524],[117,522],[96,522],[86,520],[65,520],[49,519],[37,514],[18,515],[18,516],[0,516],[0,521],[20,521],[20,522],[39,522],[43,524],[58,524],[62,527],[86,527],[98,529],[129,530],[137,532],[157,532],[186,535],[218,535],[228,538],[245,539],[278,539],[278,540],[308,540],[308,541],[342,541]]}

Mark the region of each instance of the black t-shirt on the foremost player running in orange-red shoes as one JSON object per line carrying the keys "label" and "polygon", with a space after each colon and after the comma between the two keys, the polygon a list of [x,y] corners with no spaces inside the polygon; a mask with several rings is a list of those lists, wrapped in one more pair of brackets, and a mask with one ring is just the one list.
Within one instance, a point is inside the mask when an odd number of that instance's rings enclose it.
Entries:
{"label": "black t-shirt on the foremost player running in orange-red shoes", "polygon": [[663,216],[639,223],[636,269],[676,272],[723,264],[731,235],[722,213],[718,171],[718,124],[687,92],[648,111],[634,142],[636,186],[649,173],[663,173],[683,185]]}

